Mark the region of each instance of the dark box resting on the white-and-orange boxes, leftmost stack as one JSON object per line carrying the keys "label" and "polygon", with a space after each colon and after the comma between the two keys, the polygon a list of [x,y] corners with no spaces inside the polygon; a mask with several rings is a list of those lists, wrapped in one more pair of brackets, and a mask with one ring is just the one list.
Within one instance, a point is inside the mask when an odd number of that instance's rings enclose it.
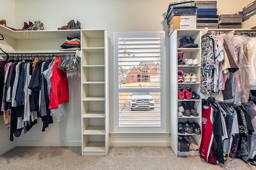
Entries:
{"label": "dark box resting on the white-and-orange boxes, leftmost stack", "polygon": [[182,15],[196,15],[196,6],[172,7],[165,18],[167,20],[167,24],[170,23],[174,16]]}

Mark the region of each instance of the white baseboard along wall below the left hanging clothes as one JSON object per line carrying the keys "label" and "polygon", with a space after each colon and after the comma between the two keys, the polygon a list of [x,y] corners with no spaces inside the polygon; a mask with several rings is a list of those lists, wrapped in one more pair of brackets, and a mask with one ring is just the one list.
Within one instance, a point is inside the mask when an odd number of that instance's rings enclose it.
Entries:
{"label": "white baseboard along wall below the left hanging clothes", "polygon": [[17,141],[17,147],[81,147],[82,141]]}

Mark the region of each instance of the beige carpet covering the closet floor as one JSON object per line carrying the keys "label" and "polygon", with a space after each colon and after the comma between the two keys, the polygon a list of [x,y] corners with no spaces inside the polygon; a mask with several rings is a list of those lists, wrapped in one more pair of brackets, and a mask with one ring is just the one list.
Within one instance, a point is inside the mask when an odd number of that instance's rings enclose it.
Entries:
{"label": "beige carpet covering the closet floor", "polygon": [[0,170],[221,170],[170,147],[110,147],[107,156],[81,156],[81,147],[16,147],[0,156]]}

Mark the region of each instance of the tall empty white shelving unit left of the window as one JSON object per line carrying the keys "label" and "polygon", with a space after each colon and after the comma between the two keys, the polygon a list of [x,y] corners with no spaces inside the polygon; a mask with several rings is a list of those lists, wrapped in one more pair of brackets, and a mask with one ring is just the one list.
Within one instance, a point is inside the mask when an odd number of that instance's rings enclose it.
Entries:
{"label": "tall empty white shelving unit left of the window", "polygon": [[82,156],[105,156],[109,149],[108,35],[82,31]]}

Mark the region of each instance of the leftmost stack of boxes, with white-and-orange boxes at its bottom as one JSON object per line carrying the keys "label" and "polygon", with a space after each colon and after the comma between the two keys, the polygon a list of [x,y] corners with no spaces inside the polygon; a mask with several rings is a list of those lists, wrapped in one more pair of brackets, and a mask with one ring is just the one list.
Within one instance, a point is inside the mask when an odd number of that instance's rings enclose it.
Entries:
{"label": "leftmost stack of boxes, with white-and-orange boxes at its bottom", "polygon": [[170,4],[165,19],[169,28],[169,36],[175,29],[196,29],[196,6],[194,0]]}

